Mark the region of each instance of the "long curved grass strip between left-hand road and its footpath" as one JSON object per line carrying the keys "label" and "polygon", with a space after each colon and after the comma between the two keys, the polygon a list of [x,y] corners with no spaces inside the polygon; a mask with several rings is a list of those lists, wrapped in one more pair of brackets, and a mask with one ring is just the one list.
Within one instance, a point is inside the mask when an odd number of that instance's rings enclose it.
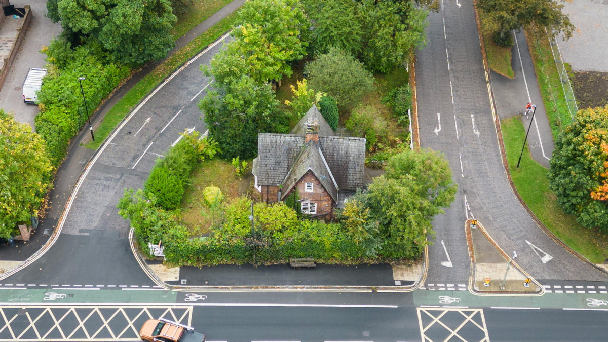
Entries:
{"label": "long curved grass strip between left-hand road and its footpath", "polygon": [[147,96],[148,93],[173,72],[174,69],[184,64],[188,58],[192,57],[197,52],[204,49],[204,47],[221,37],[223,33],[227,32],[236,19],[237,12],[233,12],[226,16],[226,18],[221,19],[215,26],[196,37],[173,55],[170,55],[161,65],[145,75],[142,80],[133,86],[133,88],[131,88],[131,90],[108,111],[103,117],[101,124],[97,127],[97,130],[95,130],[95,137],[97,139],[89,142],[85,147],[96,150],[103,141],[108,138],[108,135],[114,130],[116,125],[119,124],[126,114],[128,114],[143,97]]}

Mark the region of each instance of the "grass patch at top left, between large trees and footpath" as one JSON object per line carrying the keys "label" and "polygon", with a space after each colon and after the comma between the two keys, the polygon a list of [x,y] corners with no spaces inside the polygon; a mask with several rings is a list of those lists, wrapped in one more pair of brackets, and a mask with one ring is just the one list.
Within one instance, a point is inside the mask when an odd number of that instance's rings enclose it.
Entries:
{"label": "grass patch at top left, between large trees and footpath", "polygon": [[213,13],[229,4],[232,0],[205,0],[195,1],[190,5],[178,7],[173,13],[178,17],[178,21],[171,29],[173,38],[178,39],[186,32],[192,30],[196,25],[202,23]]}

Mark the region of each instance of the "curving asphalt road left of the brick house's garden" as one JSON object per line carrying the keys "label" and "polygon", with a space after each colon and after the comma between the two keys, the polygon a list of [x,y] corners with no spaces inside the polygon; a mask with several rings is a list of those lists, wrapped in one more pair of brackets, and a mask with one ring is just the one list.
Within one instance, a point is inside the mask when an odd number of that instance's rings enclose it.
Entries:
{"label": "curving asphalt road left of the brick house's garden", "polygon": [[[154,96],[132,112],[98,150],[83,182],[77,185],[61,235],[44,257],[6,282],[150,285],[131,253],[129,224],[116,204],[126,188],[143,186],[157,158],[187,128],[204,132],[198,101],[210,80],[199,70],[221,42],[168,79]],[[207,88],[206,88],[207,87]],[[205,89],[205,90],[204,90]]]}

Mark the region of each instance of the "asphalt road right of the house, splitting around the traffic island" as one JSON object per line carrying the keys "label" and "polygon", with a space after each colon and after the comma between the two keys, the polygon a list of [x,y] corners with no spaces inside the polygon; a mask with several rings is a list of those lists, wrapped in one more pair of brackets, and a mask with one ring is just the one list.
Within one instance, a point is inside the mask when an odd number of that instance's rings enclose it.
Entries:
{"label": "asphalt road right of the house, splitting around the traffic island", "polygon": [[[452,208],[435,218],[437,240],[429,248],[427,281],[468,279],[465,196],[471,209],[467,214],[480,220],[506,253],[516,251],[517,262],[533,277],[606,281],[606,273],[550,239],[511,189],[500,158],[472,3],[460,4],[444,2],[440,13],[430,13],[428,44],[416,61],[421,145],[446,155],[459,185]],[[447,260],[446,251],[451,268],[441,265]],[[541,260],[545,254],[551,256],[546,263]]]}

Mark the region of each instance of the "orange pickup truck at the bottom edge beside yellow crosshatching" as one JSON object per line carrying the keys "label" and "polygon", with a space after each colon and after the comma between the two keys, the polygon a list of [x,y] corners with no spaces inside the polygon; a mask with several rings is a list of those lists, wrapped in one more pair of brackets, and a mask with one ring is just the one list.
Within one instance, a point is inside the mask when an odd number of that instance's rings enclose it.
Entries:
{"label": "orange pickup truck at the bottom edge beside yellow crosshatching", "polygon": [[148,319],[139,330],[139,338],[148,342],[204,342],[205,335],[165,318]]}

